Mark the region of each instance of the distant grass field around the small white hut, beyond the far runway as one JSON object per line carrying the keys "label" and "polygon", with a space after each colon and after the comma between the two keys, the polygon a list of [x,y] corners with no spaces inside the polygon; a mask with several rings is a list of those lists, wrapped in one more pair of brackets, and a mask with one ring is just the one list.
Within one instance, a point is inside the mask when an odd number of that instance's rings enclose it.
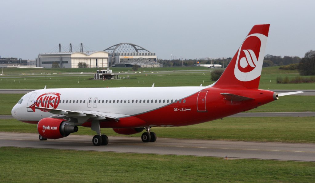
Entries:
{"label": "distant grass field around the small white hut, beyond the far runway", "polygon": [[[95,72],[96,68],[87,69],[22,69],[19,68],[6,68],[4,73],[33,73],[36,74],[45,73],[65,73],[65,72]],[[201,69],[206,71],[200,71]],[[113,68],[115,72],[122,72],[120,77],[125,77],[134,73],[130,71],[130,68]],[[175,72],[189,70],[194,73]],[[125,72],[129,73],[125,73]],[[146,71],[146,72],[144,72]],[[151,71],[154,73],[152,74]],[[159,73],[157,73],[159,71]],[[0,89],[42,89],[45,85],[48,88],[96,88],[96,87],[148,87],[155,83],[156,87],[159,86],[203,86],[214,83],[210,79],[210,71],[204,67],[163,67],[163,68],[141,68],[137,71],[137,74],[130,75],[130,77],[136,79],[121,79],[121,80],[107,80],[107,81],[95,81],[88,80],[93,77],[90,75],[80,76],[60,76],[60,75],[23,75],[23,76],[0,76]],[[167,72],[167,73],[166,73]],[[146,76],[147,74],[147,76]],[[38,76],[38,77],[30,77]],[[298,71],[294,70],[280,70],[278,67],[266,67],[263,68],[260,81],[260,89],[315,89],[315,83],[301,83],[301,84],[277,84],[277,77],[295,77],[299,76]],[[10,78],[6,78],[10,77]]]}

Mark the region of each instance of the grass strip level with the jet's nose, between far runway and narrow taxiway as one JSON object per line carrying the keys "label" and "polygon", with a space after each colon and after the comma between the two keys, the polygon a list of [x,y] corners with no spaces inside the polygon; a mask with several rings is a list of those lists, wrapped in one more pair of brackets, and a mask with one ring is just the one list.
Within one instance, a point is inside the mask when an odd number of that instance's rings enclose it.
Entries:
{"label": "grass strip level with the jet's nose, between far runway and narrow taxiway", "polygon": [[[0,94],[0,115],[10,115],[13,106],[23,94]],[[248,112],[306,112],[315,111],[314,96],[283,96],[279,100],[258,107]]]}

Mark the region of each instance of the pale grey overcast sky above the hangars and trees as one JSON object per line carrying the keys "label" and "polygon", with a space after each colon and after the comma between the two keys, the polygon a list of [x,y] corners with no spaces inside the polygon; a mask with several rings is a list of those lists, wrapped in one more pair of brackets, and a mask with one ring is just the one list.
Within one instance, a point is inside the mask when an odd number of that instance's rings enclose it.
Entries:
{"label": "pale grey overcast sky above the hangars and trees", "polygon": [[83,43],[134,43],[158,58],[232,57],[255,24],[271,24],[266,54],[315,49],[313,0],[1,1],[0,55],[35,60]]}

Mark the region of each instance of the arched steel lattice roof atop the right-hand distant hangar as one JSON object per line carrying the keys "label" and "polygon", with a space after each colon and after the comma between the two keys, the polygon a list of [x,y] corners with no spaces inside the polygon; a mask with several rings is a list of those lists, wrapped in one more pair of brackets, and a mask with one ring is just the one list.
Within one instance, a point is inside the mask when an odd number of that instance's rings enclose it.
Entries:
{"label": "arched steel lattice roof atop the right-hand distant hangar", "polygon": [[104,49],[108,53],[151,53],[149,50],[133,44],[133,43],[119,43]]}

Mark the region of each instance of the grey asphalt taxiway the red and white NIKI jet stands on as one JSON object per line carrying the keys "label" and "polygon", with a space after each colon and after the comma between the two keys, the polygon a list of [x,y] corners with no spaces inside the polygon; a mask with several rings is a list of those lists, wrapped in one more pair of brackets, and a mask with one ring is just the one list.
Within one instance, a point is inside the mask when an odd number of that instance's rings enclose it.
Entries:
{"label": "grey asphalt taxiway the red and white NIKI jet stands on", "polygon": [[140,137],[109,137],[107,146],[94,146],[92,136],[88,135],[69,135],[62,139],[40,141],[38,134],[2,132],[0,146],[315,162],[315,144],[307,143],[166,138],[143,143]]}

